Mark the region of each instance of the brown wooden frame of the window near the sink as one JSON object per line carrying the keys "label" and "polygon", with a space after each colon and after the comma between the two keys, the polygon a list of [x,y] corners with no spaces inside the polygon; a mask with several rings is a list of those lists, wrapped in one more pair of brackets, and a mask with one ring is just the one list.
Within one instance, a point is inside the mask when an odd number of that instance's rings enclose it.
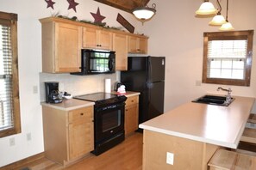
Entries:
{"label": "brown wooden frame of the window near the sink", "polygon": [[[247,39],[247,58],[245,79],[209,78],[208,75],[208,45],[210,40]],[[224,84],[234,86],[250,86],[253,59],[253,30],[231,32],[203,33],[203,83]]]}

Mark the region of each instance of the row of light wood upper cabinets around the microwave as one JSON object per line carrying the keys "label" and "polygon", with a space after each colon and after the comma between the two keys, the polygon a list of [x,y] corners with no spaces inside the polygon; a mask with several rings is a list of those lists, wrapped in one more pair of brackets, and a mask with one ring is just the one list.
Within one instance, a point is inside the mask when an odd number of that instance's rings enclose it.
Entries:
{"label": "row of light wood upper cabinets around the microwave", "polygon": [[147,37],[58,17],[41,19],[42,71],[80,72],[81,49],[116,52],[116,70],[127,70],[128,52],[147,54]]}

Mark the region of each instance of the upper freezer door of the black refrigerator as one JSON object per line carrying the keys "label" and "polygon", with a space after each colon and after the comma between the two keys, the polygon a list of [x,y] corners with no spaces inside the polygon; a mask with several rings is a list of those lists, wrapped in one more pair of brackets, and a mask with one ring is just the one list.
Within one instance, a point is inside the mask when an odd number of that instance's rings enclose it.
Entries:
{"label": "upper freezer door of the black refrigerator", "polygon": [[165,57],[148,57],[148,82],[165,80]]}

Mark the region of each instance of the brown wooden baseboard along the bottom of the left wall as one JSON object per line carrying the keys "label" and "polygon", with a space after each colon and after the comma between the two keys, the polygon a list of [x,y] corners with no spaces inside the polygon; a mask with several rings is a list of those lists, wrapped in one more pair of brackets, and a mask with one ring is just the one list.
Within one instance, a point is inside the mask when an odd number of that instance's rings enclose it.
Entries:
{"label": "brown wooden baseboard along the bottom of the left wall", "polygon": [[28,158],[25,158],[25,159],[23,159],[23,160],[16,161],[16,162],[11,163],[11,164],[9,164],[9,165],[0,167],[0,170],[11,170],[11,169],[22,168],[22,167],[24,167],[25,165],[27,165],[28,163],[30,163],[30,162],[32,162],[32,161],[40,160],[40,159],[42,159],[42,158],[44,158],[44,157],[45,157],[45,153],[44,153],[44,152],[41,152],[40,154],[32,155],[32,156],[29,156]]}

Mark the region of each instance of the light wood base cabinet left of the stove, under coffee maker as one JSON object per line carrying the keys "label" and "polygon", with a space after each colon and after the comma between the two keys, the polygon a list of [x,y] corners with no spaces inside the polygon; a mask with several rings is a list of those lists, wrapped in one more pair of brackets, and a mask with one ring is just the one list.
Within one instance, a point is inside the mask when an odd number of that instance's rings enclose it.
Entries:
{"label": "light wood base cabinet left of the stove, under coffee maker", "polygon": [[42,106],[45,155],[66,165],[94,149],[93,106],[71,111]]}

